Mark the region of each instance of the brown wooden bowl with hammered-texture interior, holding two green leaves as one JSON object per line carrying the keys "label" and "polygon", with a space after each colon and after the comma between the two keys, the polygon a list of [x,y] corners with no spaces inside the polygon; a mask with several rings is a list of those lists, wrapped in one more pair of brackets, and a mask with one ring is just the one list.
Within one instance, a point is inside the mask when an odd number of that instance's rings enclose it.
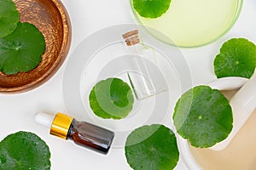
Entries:
{"label": "brown wooden bowl with hammered-texture interior, holding two green leaves", "polygon": [[5,75],[0,71],[0,93],[21,93],[37,88],[61,67],[71,42],[71,24],[59,0],[14,0],[20,21],[38,27],[44,35],[45,51],[40,64],[28,72]]}

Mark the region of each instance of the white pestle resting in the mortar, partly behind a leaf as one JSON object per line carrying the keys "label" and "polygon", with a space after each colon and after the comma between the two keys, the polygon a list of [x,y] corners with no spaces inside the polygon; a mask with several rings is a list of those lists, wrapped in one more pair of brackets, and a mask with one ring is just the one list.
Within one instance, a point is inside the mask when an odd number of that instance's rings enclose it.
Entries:
{"label": "white pestle resting in the mortar, partly behind a leaf", "polygon": [[233,129],[227,139],[215,144],[210,149],[224,150],[230,141],[236,136],[243,124],[256,108],[256,69],[253,76],[244,86],[230,99],[230,106],[233,112]]}

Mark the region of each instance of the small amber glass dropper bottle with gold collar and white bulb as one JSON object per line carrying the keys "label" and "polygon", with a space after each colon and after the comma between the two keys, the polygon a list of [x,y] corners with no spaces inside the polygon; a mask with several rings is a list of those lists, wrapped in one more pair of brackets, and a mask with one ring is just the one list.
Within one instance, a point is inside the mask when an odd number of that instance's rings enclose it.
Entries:
{"label": "small amber glass dropper bottle with gold collar and white bulb", "polygon": [[108,129],[97,127],[89,122],[79,122],[71,116],[57,113],[50,116],[38,112],[34,116],[38,124],[49,127],[49,133],[61,139],[72,139],[75,144],[107,154],[112,144],[114,133]]}

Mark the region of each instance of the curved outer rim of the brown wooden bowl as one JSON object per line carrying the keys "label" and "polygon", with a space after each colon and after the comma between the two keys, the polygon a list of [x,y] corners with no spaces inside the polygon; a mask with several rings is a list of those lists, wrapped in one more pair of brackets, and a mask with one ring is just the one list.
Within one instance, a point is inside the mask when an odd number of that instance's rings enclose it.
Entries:
{"label": "curved outer rim of the brown wooden bowl", "polygon": [[[58,58],[55,60],[54,65],[52,65],[48,71],[46,71],[42,77],[39,77],[33,82],[27,83],[20,87],[14,88],[0,88],[1,94],[20,94],[27,91],[30,91],[34,88],[38,88],[43,85],[44,82],[47,82],[51,77],[55,75],[55,73],[60,69],[62,63],[67,58],[67,54],[69,52],[70,44],[71,44],[71,21],[69,15],[67,13],[67,9],[59,0],[49,0],[55,4],[55,7],[58,9],[61,15],[62,26],[63,26],[63,40],[61,43],[61,50]],[[67,34],[65,34],[67,32]]]}

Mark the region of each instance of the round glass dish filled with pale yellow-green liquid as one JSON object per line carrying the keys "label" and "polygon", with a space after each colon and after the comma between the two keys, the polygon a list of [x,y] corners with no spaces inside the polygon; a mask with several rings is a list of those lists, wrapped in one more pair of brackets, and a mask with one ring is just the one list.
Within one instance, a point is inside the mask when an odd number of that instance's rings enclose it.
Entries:
{"label": "round glass dish filled with pale yellow-green liquid", "polygon": [[[138,22],[162,42],[183,48],[195,48],[214,42],[236,22],[242,0],[172,0],[159,18],[144,18],[131,8]],[[160,31],[162,35],[156,33]]]}

